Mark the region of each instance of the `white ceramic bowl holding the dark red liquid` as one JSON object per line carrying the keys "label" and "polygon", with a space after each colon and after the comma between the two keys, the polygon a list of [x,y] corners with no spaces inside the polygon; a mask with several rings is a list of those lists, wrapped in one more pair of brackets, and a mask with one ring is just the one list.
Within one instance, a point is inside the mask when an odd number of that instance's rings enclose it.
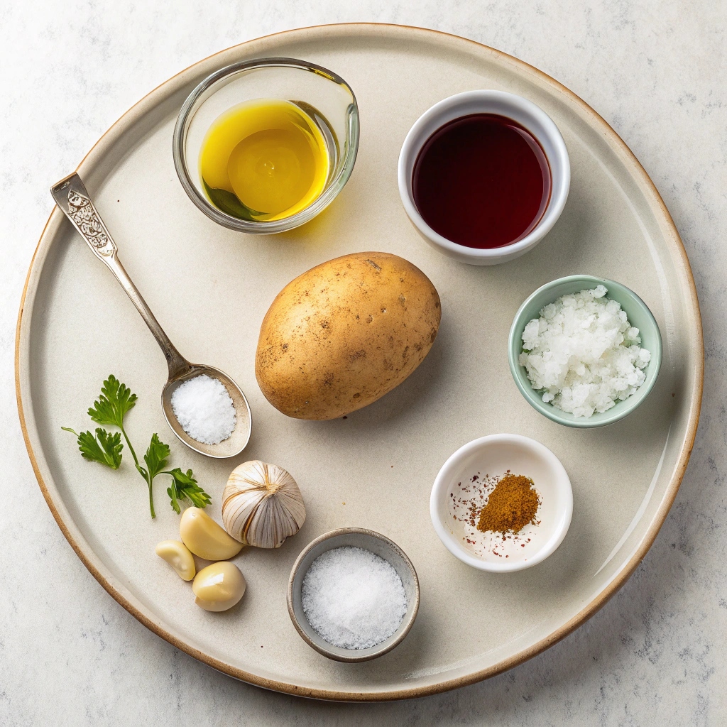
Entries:
{"label": "white ceramic bowl holding the dark red liquid", "polygon": [[[538,224],[529,235],[510,245],[491,249],[477,249],[459,245],[435,232],[419,214],[414,204],[411,189],[411,174],[419,151],[429,137],[441,126],[469,116],[472,113],[496,113],[507,116],[524,126],[540,142],[548,164],[550,164],[551,188],[550,201]],[[566,142],[563,141],[558,126],[553,119],[531,101],[505,91],[465,91],[435,103],[428,111],[419,116],[409,129],[401,147],[398,162],[398,182],[401,202],[423,238],[433,247],[456,260],[470,265],[497,265],[520,257],[536,246],[550,232],[566,206],[571,186],[571,163]]]}

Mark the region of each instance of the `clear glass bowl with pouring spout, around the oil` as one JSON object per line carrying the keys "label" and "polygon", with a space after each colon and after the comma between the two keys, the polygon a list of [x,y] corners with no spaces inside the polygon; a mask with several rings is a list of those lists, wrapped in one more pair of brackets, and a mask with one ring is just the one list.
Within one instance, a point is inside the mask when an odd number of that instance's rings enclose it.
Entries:
{"label": "clear glass bowl with pouring spout, around the oil", "polygon": [[[204,190],[199,156],[204,137],[222,113],[244,101],[290,101],[316,122],[330,168],[324,189],[305,209],[281,220],[242,220],[218,209]],[[322,212],[342,190],[358,151],[358,105],[350,86],[320,65],[294,58],[247,60],[220,68],[194,89],[174,126],[174,166],[182,187],[214,222],[241,232],[269,235],[292,230]]]}

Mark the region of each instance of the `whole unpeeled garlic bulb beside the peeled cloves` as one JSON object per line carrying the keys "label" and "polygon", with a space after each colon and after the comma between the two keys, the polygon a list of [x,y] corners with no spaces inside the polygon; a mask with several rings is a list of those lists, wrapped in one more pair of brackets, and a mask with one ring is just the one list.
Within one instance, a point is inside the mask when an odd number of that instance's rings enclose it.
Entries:
{"label": "whole unpeeled garlic bulb beside the peeled cloves", "polygon": [[222,493],[222,524],[240,542],[281,547],[305,522],[295,480],[277,465],[254,459],[236,467]]}

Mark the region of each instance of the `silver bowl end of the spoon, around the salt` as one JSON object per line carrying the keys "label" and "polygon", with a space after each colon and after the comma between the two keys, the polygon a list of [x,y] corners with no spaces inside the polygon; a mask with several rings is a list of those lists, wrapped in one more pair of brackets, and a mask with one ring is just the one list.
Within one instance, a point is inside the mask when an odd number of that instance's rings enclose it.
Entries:
{"label": "silver bowl end of the spoon, around the salt", "polygon": [[[227,439],[223,439],[217,444],[206,444],[193,439],[182,429],[177,417],[174,416],[172,409],[172,394],[185,381],[194,379],[198,376],[206,375],[212,379],[217,379],[227,389],[227,393],[232,399],[235,407],[235,415],[237,422],[233,433]],[[212,366],[201,366],[200,364],[189,364],[188,371],[177,374],[176,377],[170,378],[161,390],[161,409],[164,411],[164,418],[169,428],[177,435],[177,438],[184,442],[190,449],[200,454],[206,454],[207,457],[216,457],[217,459],[225,459],[234,457],[236,454],[245,449],[250,441],[250,433],[252,432],[252,414],[250,412],[249,403],[242,393],[241,388],[220,369],[214,369]]]}

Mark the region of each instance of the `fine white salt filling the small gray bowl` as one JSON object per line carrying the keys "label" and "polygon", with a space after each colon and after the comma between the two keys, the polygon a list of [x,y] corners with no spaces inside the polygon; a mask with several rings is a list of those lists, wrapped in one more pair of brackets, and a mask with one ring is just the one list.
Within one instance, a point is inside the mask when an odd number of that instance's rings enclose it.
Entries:
{"label": "fine white salt filling the small gray bowl", "polygon": [[302,585],[303,613],[313,630],[340,648],[377,646],[406,616],[406,593],[384,558],[338,547],[310,564]]}

